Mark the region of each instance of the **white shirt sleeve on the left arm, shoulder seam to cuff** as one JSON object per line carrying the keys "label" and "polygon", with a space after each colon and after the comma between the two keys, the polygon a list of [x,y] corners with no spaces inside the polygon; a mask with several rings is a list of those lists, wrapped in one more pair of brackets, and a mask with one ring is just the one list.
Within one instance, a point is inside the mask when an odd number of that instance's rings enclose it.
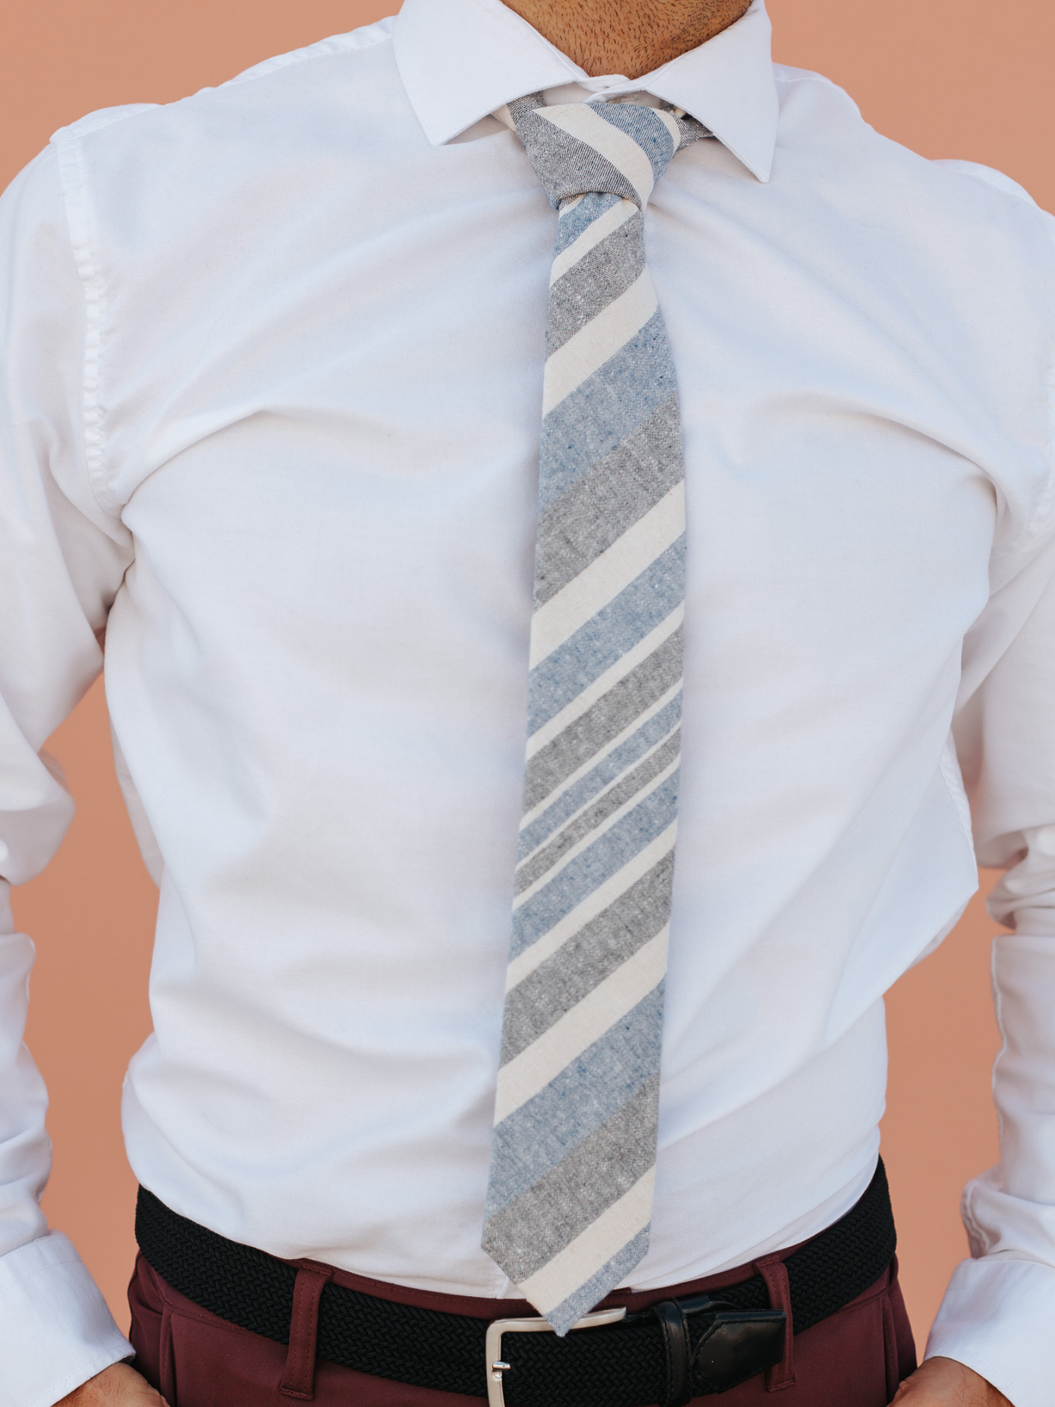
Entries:
{"label": "white shirt sleeve on the left arm, shoulder seam to cuff", "polygon": [[70,1241],[39,1209],[46,1093],[23,1044],[34,947],[10,889],[73,812],[42,747],[98,674],[129,535],[91,488],[93,287],[48,148],[0,198],[0,1401],[49,1407],[131,1354]]}

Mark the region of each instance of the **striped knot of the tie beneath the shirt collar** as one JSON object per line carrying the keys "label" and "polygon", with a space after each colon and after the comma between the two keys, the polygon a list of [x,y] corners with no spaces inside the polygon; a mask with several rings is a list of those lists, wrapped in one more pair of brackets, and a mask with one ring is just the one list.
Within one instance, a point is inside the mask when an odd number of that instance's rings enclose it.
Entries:
{"label": "striped knot of the tie beneath the shirt collar", "polygon": [[675,152],[710,134],[692,117],[644,103],[560,103],[540,93],[509,104],[516,135],[550,204],[592,191],[644,210]]}

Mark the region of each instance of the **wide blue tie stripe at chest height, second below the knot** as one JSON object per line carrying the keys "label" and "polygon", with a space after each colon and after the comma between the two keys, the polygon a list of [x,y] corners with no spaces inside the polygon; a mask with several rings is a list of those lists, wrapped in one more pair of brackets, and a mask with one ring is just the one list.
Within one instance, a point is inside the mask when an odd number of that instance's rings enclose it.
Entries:
{"label": "wide blue tie stripe at chest height, second below the knot", "polygon": [[640,332],[543,419],[539,512],[622,445],[677,388],[657,308]]}

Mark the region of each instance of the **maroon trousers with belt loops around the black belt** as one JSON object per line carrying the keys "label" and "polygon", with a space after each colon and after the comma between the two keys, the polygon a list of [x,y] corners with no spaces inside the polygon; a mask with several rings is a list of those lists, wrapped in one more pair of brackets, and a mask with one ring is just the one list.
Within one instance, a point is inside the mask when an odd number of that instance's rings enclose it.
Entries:
{"label": "maroon trousers with belt loops around the black belt", "polygon": [[[717,1290],[762,1273],[774,1307],[786,1307],[788,1275],[782,1258],[712,1275],[685,1285],[640,1294],[610,1294],[603,1303],[646,1309],[660,1300],[702,1290]],[[384,1377],[370,1377],[315,1362],[318,1297],[328,1279],[399,1304],[468,1314],[478,1318],[515,1318],[535,1314],[523,1300],[482,1300],[459,1294],[432,1294],[398,1285],[367,1280],[311,1261],[298,1266],[290,1345],[274,1344],[228,1324],[172,1289],[141,1255],[135,1265],[128,1301],[136,1369],[162,1393],[169,1407],[293,1407],[316,1401],[319,1407],[481,1407],[482,1399],[411,1387]],[[584,1331],[588,1332],[588,1331]],[[699,1407],[886,1407],[897,1383],[916,1368],[916,1348],[897,1285],[897,1262],[851,1304],[789,1335],[784,1362],[720,1396],[698,1397]],[[481,1355],[481,1384],[484,1363]]]}

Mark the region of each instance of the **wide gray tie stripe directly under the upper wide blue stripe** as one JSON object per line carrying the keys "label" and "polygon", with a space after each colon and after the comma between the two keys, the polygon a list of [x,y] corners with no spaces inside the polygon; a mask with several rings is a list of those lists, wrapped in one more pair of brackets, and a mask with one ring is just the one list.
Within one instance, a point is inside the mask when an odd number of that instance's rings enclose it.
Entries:
{"label": "wide gray tie stripe directly under the upper wide blue stripe", "polygon": [[678,397],[670,395],[540,515],[535,605],[556,597],[682,477]]}

